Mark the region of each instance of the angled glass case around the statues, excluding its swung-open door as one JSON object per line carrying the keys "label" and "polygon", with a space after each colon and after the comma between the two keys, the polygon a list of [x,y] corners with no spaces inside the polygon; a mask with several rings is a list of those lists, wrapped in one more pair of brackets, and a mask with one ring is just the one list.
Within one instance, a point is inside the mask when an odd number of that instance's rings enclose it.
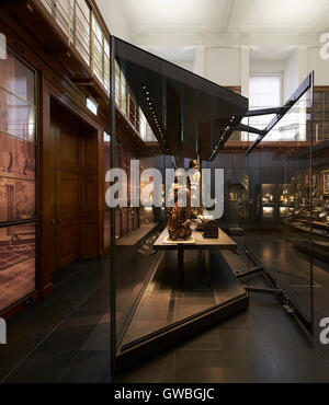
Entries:
{"label": "angled glass case around the statues, excluding its swung-open door", "polygon": [[[232,183],[240,182],[245,162],[236,170],[235,159],[227,167],[214,159],[248,111],[248,100],[115,37],[111,48],[112,72],[120,68],[154,140],[125,142],[112,81],[111,169],[121,171],[107,186],[122,188],[112,194],[117,204],[110,208],[111,316],[113,366],[120,372],[248,306],[248,294],[225,259],[225,252],[238,246],[224,228],[214,242],[195,222],[183,244],[168,242],[166,227],[167,196],[175,182],[166,182],[166,174],[173,167],[196,166],[198,176],[209,171],[208,211],[220,207],[214,220],[225,221],[225,171]],[[145,171],[152,169],[161,176],[160,206],[140,201],[155,180]],[[245,228],[243,208],[240,213]]]}

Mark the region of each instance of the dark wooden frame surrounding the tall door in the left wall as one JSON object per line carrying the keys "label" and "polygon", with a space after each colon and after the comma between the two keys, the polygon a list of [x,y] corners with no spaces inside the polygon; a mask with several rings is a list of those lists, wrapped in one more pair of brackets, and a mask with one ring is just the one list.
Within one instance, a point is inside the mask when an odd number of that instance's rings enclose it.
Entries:
{"label": "dark wooden frame surrounding the tall door in the left wall", "polygon": [[[104,174],[103,174],[103,132],[102,126],[98,118],[92,116],[87,107],[79,106],[71,97],[64,93],[60,83],[55,83],[50,78],[39,72],[39,144],[38,144],[38,166],[39,175],[37,182],[38,189],[38,211],[39,211],[39,244],[36,252],[38,259],[38,290],[41,297],[45,297],[54,289],[52,280],[54,268],[54,257],[50,256],[48,246],[54,243],[54,227],[50,221],[52,212],[52,141],[50,141],[50,105],[52,101],[61,105],[69,113],[73,114],[79,120],[86,123],[98,134],[98,182],[99,182],[99,255],[103,253],[102,225],[104,217]],[[57,84],[57,85],[56,85]],[[78,91],[78,90],[77,90]],[[87,99],[87,97],[86,97]],[[52,228],[53,227],[53,228]]]}

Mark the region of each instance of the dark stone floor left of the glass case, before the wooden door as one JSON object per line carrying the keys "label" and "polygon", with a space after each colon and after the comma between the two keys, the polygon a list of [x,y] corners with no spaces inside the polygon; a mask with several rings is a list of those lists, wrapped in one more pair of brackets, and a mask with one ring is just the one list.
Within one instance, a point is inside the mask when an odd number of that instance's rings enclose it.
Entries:
{"label": "dark stone floor left of the glass case, before the wooden door", "polygon": [[109,262],[69,265],[54,292],[8,324],[2,382],[101,382],[110,377]]}

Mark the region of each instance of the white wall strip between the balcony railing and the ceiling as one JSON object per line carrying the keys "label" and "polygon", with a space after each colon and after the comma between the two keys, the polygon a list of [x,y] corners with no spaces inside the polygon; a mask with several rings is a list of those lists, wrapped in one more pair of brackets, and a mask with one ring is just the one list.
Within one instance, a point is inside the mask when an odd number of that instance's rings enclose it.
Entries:
{"label": "white wall strip between the balcony railing and the ceiling", "polygon": [[112,35],[131,42],[132,32],[124,14],[121,0],[97,0],[107,28]]}

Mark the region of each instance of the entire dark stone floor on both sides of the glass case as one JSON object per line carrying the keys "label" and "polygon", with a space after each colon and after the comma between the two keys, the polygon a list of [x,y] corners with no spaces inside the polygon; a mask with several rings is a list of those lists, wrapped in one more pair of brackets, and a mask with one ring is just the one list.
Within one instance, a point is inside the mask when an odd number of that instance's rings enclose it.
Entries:
{"label": "entire dark stone floor on both sides of the glass case", "polygon": [[[0,381],[111,382],[107,266],[70,265],[56,274],[54,293],[9,323]],[[261,276],[248,282],[264,285]],[[329,382],[329,352],[318,331],[310,337],[276,298],[251,294],[247,311],[116,381]]]}

